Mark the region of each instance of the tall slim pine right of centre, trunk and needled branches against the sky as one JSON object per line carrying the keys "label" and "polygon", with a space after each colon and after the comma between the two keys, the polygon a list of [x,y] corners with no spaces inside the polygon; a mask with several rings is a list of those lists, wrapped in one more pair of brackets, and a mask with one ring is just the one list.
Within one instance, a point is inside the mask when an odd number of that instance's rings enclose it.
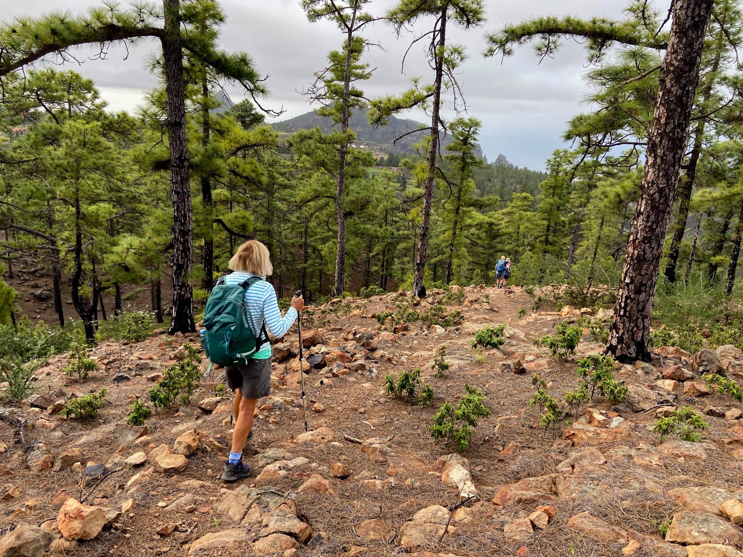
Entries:
{"label": "tall slim pine right of centre, trunk and needled branches against the sky", "polygon": [[455,69],[466,58],[464,48],[447,42],[447,25],[450,22],[455,23],[465,30],[478,27],[484,22],[484,5],[481,0],[400,0],[388,11],[386,19],[399,35],[406,26],[413,25],[418,19],[426,17],[434,19],[434,25],[431,30],[418,37],[416,42],[430,37],[426,54],[434,71],[432,85],[421,87],[420,81],[414,79],[413,88],[399,97],[385,97],[371,102],[370,113],[372,123],[383,124],[392,114],[416,106],[430,108],[431,111],[431,126],[428,128],[429,141],[426,143],[424,206],[421,214],[421,229],[418,233],[418,253],[415,256],[415,276],[412,286],[415,296],[420,296],[424,291],[423,279],[436,180],[436,160],[439,133],[442,128],[440,113],[442,94],[445,94],[448,88],[454,88],[458,97],[461,97]]}

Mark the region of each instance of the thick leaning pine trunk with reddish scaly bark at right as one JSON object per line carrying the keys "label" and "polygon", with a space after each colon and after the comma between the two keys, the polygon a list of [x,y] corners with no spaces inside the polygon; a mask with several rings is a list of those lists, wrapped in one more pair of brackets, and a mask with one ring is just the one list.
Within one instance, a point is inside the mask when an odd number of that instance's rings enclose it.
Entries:
{"label": "thick leaning pine trunk with reddish scaly bark at right", "polygon": [[653,124],[648,137],[640,199],[629,232],[622,280],[607,351],[620,360],[649,361],[650,316],[663,238],[684,156],[704,30],[713,0],[675,0]]}

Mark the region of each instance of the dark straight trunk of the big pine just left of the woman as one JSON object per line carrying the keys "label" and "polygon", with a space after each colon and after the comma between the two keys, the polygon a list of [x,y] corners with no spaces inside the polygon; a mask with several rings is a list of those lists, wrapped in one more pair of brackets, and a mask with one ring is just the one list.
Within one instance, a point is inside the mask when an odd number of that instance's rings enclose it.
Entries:
{"label": "dark straight trunk of the big pine just left of the woman", "polygon": [[192,333],[193,296],[189,273],[193,261],[191,184],[186,137],[186,88],[180,39],[180,0],[163,0],[166,36],[162,39],[168,142],[173,203],[173,304],[169,334]]}

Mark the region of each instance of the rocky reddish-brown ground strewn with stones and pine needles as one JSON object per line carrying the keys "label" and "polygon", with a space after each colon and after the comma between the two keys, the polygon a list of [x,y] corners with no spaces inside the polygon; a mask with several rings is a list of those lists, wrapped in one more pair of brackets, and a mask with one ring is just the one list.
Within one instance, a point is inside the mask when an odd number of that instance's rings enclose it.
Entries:
{"label": "rocky reddish-brown ground strewn with stones and pine needles", "polygon": [[[576,366],[532,339],[581,310],[531,313],[519,288],[467,288],[464,303],[448,308],[463,311],[461,325],[392,331],[374,316],[395,310],[395,296],[355,299],[344,312],[316,308],[329,317],[303,330],[306,433],[296,328],[276,342],[273,396],[260,401],[246,448],[255,472],[233,485],[219,481],[230,443],[230,400],[215,396],[219,371],[189,405],[126,425],[132,400],[146,400],[197,336],[100,345],[97,371],[84,382],[60,374],[66,356],[51,359],[36,372],[35,395],[0,408],[0,557],[743,556],[740,405],[700,379],[707,371],[743,377],[743,353],[661,348],[652,365],[617,366],[629,386],[625,403],[595,397],[543,431],[528,406],[532,374],[562,399],[577,383]],[[405,299],[424,312],[439,296]],[[502,322],[506,344],[473,353],[476,331]],[[435,377],[441,345],[450,369]],[[602,349],[584,341],[577,354]],[[383,392],[385,374],[415,367],[435,389],[430,408]],[[484,391],[492,414],[458,455],[428,428],[465,383]],[[104,386],[97,418],[59,416],[68,399]],[[677,403],[705,414],[701,443],[660,443],[649,429]]]}

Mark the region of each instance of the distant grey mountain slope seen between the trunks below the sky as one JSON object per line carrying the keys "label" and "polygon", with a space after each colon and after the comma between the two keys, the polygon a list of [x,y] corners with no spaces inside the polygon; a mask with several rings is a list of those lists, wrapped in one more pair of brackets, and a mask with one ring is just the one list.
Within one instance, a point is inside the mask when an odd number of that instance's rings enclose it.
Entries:
{"label": "distant grey mountain slope seen between the trunks below the sky", "polygon": [[[356,133],[356,140],[363,146],[371,149],[374,154],[389,154],[392,152],[415,154],[416,143],[421,143],[426,131],[417,131],[415,133],[406,135],[402,139],[395,143],[395,139],[403,134],[408,134],[411,131],[415,131],[418,128],[422,128],[425,124],[416,122],[415,120],[403,120],[402,118],[391,117],[389,123],[386,126],[373,127],[369,125],[369,121],[366,119],[366,115],[359,111],[354,111],[351,114],[350,121],[351,129]],[[320,128],[324,133],[328,133],[334,127],[334,122],[331,118],[325,116],[318,116],[314,112],[308,112],[300,116],[291,118],[290,120],[284,120],[283,122],[277,122],[271,124],[271,127],[282,131],[284,133],[292,134],[300,129],[312,129]],[[450,135],[441,134],[441,145],[442,148],[449,145],[452,142]],[[478,157],[484,158],[482,149],[478,146]]]}

